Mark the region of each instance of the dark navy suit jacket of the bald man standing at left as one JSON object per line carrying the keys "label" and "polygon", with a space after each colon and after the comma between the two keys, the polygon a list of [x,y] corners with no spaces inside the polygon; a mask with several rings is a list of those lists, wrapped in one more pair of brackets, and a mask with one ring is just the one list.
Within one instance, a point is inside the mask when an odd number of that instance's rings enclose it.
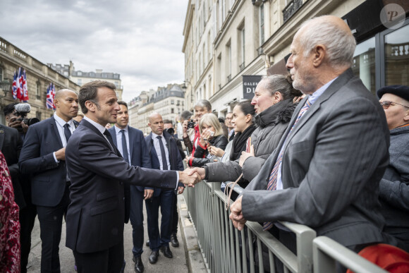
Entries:
{"label": "dark navy suit jacket of the bald man standing at left", "polygon": [[[78,122],[74,121],[75,126]],[[34,205],[54,207],[66,189],[66,162],[55,162],[53,152],[63,147],[53,116],[28,127],[20,153],[20,171],[32,174],[31,190]]]}

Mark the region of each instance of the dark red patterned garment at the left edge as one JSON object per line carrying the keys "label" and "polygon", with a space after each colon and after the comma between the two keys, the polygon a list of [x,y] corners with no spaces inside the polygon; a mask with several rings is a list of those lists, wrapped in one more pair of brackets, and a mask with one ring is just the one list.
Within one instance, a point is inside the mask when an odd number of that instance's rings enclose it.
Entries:
{"label": "dark red patterned garment at the left edge", "polygon": [[6,159],[0,152],[0,272],[20,272],[20,222]]}

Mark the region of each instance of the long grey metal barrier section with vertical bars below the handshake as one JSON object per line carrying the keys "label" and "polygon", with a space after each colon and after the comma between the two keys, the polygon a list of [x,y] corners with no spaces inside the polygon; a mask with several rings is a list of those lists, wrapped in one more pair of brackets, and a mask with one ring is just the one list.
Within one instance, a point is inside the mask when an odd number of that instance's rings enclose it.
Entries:
{"label": "long grey metal barrier section with vertical bars below the handshake", "polygon": [[[269,232],[263,231],[259,223],[247,222],[246,229],[238,231],[228,219],[230,211],[224,210],[225,195],[220,184],[199,183],[195,188],[185,190],[190,218],[210,272],[275,272],[278,260],[283,263],[284,272],[312,272],[314,230],[281,222],[295,233],[297,255]],[[243,189],[236,186],[234,190],[240,193]]]}

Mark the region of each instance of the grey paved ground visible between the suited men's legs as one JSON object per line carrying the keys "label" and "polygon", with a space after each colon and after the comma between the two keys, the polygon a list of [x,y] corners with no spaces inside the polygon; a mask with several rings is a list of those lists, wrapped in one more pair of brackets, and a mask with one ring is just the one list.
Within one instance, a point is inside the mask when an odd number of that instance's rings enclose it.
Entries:
{"label": "grey paved ground visible between the suited men's legs", "polygon": [[[178,196],[178,200],[183,200],[181,195]],[[180,201],[179,201],[180,202]],[[181,204],[178,204],[179,206]],[[159,212],[160,213],[160,212]],[[144,227],[145,227],[145,241],[147,240],[147,217],[146,210],[144,209]],[[173,248],[171,246],[171,251],[173,253],[173,258],[169,259],[164,257],[162,253],[159,255],[159,260],[156,264],[151,265],[148,261],[148,256],[150,250],[144,245],[144,253],[142,253],[142,262],[145,265],[145,272],[178,272],[178,273],[188,273],[189,267],[187,265],[187,259],[185,254],[185,246],[183,244],[183,236],[181,236],[181,225],[178,229],[178,240],[180,246],[178,248]],[[188,240],[195,240],[195,238],[189,238]],[[75,272],[74,270],[74,256],[71,249],[66,248],[66,225],[63,223],[63,234],[61,236],[60,243],[60,262],[61,262],[61,273]],[[130,224],[125,225],[124,231],[124,248],[125,248],[125,260],[126,268],[125,272],[135,272],[133,269],[134,263],[132,261],[132,226]],[[32,231],[32,249],[30,257],[28,260],[28,272],[40,272],[40,260],[41,260],[41,241],[39,239],[39,223],[36,219],[35,227]],[[192,272],[197,272],[193,270]]]}

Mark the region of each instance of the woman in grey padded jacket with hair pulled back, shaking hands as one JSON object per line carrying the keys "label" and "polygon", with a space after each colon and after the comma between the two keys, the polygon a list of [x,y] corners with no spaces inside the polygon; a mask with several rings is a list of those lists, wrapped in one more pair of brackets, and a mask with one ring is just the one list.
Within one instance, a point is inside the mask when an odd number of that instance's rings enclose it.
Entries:
{"label": "woman in grey padded jacket with hair pulled back, shaking hands", "polygon": [[258,126],[251,136],[251,150],[254,152],[243,152],[239,160],[209,163],[204,169],[193,171],[208,181],[236,181],[242,173],[245,181],[251,181],[279,144],[296,107],[293,99],[300,95],[301,92],[293,88],[291,78],[286,75],[262,78],[251,102]]}

